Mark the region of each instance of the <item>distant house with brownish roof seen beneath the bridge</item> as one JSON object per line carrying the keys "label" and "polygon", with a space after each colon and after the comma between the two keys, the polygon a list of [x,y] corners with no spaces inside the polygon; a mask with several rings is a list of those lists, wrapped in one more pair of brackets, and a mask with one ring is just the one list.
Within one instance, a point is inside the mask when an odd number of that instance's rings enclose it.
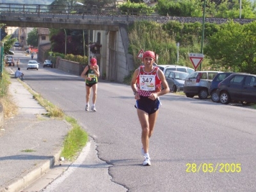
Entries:
{"label": "distant house with brownish roof seen beneath the bridge", "polygon": [[38,34],[38,53],[37,58],[40,61],[46,60],[46,52],[51,50],[51,41],[48,28],[37,28]]}

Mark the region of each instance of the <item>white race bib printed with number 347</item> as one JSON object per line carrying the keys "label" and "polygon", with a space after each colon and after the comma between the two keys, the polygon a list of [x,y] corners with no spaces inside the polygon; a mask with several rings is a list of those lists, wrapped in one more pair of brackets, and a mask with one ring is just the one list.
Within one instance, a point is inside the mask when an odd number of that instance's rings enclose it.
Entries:
{"label": "white race bib printed with number 347", "polygon": [[140,90],[155,91],[156,78],[153,75],[140,75]]}

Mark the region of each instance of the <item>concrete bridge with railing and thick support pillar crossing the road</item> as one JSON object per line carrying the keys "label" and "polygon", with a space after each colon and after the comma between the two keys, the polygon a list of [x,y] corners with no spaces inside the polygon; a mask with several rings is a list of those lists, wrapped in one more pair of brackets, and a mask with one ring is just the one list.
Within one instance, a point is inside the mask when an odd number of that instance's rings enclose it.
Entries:
{"label": "concrete bridge with railing and thick support pillar crossing the road", "polygon": [[[126,14],[126,15],[124,15]],[[136,20],[159,23],[169,20],[179,22],[202,22],[202,18],[162,17],[146,15],[141,10],[125,10],[92,6],[49,6],[42,4],[0,4],[1,23],[6,26],[31,28],[58,28],[93,30],[93,42],[100,42],[100,54],[92,54],[99,60],[101,76],[109,81],[122,82],[134,69],[133,58],[128,54],[127,26]],[[241,23],[248,19],[235,19]],[[227,19],[205,18],[205,22],[223,23]],[[140,47],[141,48],[141,47]]]}

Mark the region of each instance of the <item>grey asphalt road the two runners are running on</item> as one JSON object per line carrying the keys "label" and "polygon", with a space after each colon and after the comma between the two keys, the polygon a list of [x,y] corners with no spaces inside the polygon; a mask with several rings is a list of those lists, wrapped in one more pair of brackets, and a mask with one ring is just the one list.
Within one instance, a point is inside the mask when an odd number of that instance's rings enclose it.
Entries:
{"label": "grey asphalt road the two runners are running on", "polygon": [[[145,167],[130,86],[100,81],[93,113],[84,111],[81,77],[42,65],[39,70],[25,71],[25,64],[21,68],[33,90],[76,118],[90,134],[95,148],[85,159],[99,161],[91,166],[79,161],[76,171],[64,173],[65,178],[53,182],[54,189],[48,191],[109,191],[102,185],[106,180],[115,184],[111,191],[256,191],[254,109],[173,93],[162,96],[150,138],[152,166]],[[104,170],[102,177],[93,179],[93,170],[99,168]]]}

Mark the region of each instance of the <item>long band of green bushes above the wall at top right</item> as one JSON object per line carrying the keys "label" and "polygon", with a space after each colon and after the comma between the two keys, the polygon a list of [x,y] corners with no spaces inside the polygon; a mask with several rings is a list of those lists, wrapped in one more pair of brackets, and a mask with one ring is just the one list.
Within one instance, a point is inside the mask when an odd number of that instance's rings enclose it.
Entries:
{"label": "long band of green bushes above the wall at top right", "polygon": [[[195,0],[159,0],[156,11],[159,15],[177,17],[202,17],[204,1]],[[242,2],[242,19],[256,18],[256,3],[249,0]],[[211,1],[206,0],[205,17],[239,18],[239,1]]]}

